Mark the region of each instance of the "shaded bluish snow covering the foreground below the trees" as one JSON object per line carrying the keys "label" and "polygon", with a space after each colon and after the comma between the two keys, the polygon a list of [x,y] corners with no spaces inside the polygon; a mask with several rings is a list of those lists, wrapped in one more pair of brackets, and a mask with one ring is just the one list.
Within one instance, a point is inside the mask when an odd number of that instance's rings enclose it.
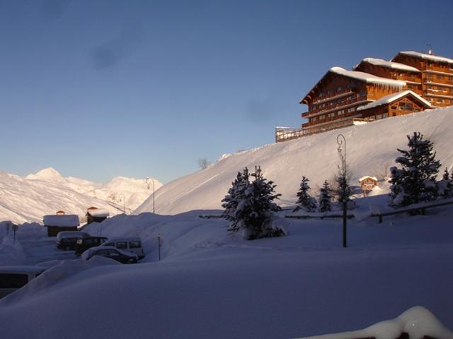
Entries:
{"label": "shaded bluish snow covering the foreground below the trees", "polygon": [[91,234],[142,237],[145,262],[52,275],[50,283],[38,277],[49,288],[0,301],[2,335],[300,338],[365,328],[417,305],[453,328],[449,206],[382,224],[352,219],[347,249],[340,220],[290,220],[287,237],[248,242],[226,232],[224,220],[197,214],[90,225]]}

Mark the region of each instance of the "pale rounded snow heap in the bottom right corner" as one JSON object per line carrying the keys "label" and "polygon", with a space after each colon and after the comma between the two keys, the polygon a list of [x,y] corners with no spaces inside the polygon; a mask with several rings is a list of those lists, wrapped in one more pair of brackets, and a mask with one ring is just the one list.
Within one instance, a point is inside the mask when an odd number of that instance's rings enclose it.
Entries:
{"label": "pale rounded snow heap in the bottom right corner", "polygon": [[299,339],[449,339],[453,332],[425,307],[408,309],[395,319],[382,321],[360,331],[315,335]]}

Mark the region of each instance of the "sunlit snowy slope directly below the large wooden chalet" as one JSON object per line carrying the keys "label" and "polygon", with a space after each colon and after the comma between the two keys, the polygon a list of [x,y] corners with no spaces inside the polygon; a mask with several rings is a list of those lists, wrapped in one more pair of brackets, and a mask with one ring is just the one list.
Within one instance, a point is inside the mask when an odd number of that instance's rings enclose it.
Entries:
{"label": "sunlit snowy slope directly below the large wooden chalet", "polygon": [[[435,144],[437,159],[442,168],[452,168],[453,107],[432,109],[375,121],[372,124],[350,126],[294,141],[266,145],[254,150],[222,157],[207,169],[176,179],[156,192],[156,213],[176,214],[195,209],[221,207],[221,200],[243,167],[254,169],[260,165],[265,177],[277,184],[282,194],[281,205],[296,200],[302,175],[310,179],[313,194],[326,179],[332,179],[339,165],[336,137],[346,138],[348,166],[352,184],[365,175],[379,176],[394,165],[400,155],[396,148],[407,148],[406,135],[420,131]],[[442,172],[442,171],[441,171]],[[152,199],[140,206],[136,213],[151,212]]]}

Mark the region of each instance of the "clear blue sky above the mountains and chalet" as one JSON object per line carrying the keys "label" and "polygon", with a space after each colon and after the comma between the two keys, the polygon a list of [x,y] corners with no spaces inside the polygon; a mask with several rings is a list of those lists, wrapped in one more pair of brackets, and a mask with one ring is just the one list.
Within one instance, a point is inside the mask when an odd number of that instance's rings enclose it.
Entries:
{"label": "clear blue sky above the mountains and chalet", "polygon": [[273,143],[332,66],[453,57],[453,1],[0,0],[0,169],[161,182]]}

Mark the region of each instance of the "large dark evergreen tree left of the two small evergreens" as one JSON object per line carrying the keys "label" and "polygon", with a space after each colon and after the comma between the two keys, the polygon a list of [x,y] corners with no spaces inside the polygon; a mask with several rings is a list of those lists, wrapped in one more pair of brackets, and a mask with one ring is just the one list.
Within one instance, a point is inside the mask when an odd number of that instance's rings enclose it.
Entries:
{"label": "large dark evergreen tree left of the two small evergreens", "polygon": [[[244,230],[246,239],[250,240],[284,235],[285,232],[272,225],[272,212],[281,210],[280,206],[273,202],[281,195],[275,194],[276,185],[263,177],[260,167],[255,167],[255,173],[251,174],[251,177],[255,178],[253,182],[249,182],[248,176],[242,177],[243,184],[237,185],[234,199],[228,198],[224,203],[230,208],[228,212],[224,211],[225,218],[230,221],[229,230]],[[231,197],[231,194],[227,196]],[[232,201],[237,204],[231,203]],[[231,214],[233,209],[234,215]]]}

